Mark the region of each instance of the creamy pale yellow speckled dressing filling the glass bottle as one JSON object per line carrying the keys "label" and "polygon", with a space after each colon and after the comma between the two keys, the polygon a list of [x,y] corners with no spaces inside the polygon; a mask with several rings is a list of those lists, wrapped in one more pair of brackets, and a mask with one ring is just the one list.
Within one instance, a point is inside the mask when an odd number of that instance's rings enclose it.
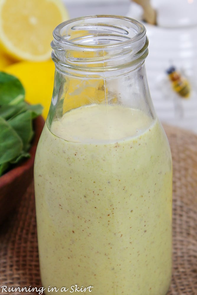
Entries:
{"label": "creamy pale yellow speckled dressing filling the glass bottle", "polygon": [[172,169],[157,120],[101,104],[66,113],[51,132],[45,125],[35,197],[45,288],[60,288],[56,294],[62,287],[74,293],[74,285],[93,286],[85,292],[93,295],[167,293]]}

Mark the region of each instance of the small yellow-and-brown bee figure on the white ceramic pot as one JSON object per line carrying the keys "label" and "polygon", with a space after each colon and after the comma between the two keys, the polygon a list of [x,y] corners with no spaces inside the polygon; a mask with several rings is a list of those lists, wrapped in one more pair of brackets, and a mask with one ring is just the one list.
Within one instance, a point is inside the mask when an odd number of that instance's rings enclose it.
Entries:
{"label": "small yellow-and-brown bee figure on the white ceramic pot", "polygon": [[171,66],[166,73],[172,83],[172,89],[179,96],[187,99],[190,95],[190,84],[187,79],[181,76],[181,74],[176,71],[174,66]]}

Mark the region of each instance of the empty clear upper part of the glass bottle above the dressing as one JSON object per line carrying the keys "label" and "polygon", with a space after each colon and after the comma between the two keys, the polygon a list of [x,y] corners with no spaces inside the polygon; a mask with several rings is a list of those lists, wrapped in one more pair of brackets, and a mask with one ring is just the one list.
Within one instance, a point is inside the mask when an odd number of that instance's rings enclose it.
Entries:
{"label": "empty clear upper part of the glass bottle above the dressing", "polygon": [[56,72],[48,128],[70,110],[91,104],[118,104],[154,119],[142,24],[125,17],[93,16],[64,22],[53,35]]}

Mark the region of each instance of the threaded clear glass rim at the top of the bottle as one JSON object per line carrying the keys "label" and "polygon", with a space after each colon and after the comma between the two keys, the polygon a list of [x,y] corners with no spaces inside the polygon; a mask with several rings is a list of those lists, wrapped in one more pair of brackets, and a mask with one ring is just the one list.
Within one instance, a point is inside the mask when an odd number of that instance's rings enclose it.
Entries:
{"label": "threaded clear glass rim at the top of the bottle", "polygon": [[135,19],[95,15],[70,19],[53,31],[52,59],[60,71],[128,70],[144,62],[148,39]]}

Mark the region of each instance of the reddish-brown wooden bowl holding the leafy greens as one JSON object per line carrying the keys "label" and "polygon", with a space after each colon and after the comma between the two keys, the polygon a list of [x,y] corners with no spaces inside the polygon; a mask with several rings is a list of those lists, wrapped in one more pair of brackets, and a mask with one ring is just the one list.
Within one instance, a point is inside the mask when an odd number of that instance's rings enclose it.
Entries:
{"label": "reddish-brown wooden bowl holding the leafy greens", "polygon": [[22,195],[33,179],[35,152],[44,123],[41,116],[33,122],[35,134],[29,151],[31,157],[20,162],[15,168],[0,177],[0,224],[19,204]]}

